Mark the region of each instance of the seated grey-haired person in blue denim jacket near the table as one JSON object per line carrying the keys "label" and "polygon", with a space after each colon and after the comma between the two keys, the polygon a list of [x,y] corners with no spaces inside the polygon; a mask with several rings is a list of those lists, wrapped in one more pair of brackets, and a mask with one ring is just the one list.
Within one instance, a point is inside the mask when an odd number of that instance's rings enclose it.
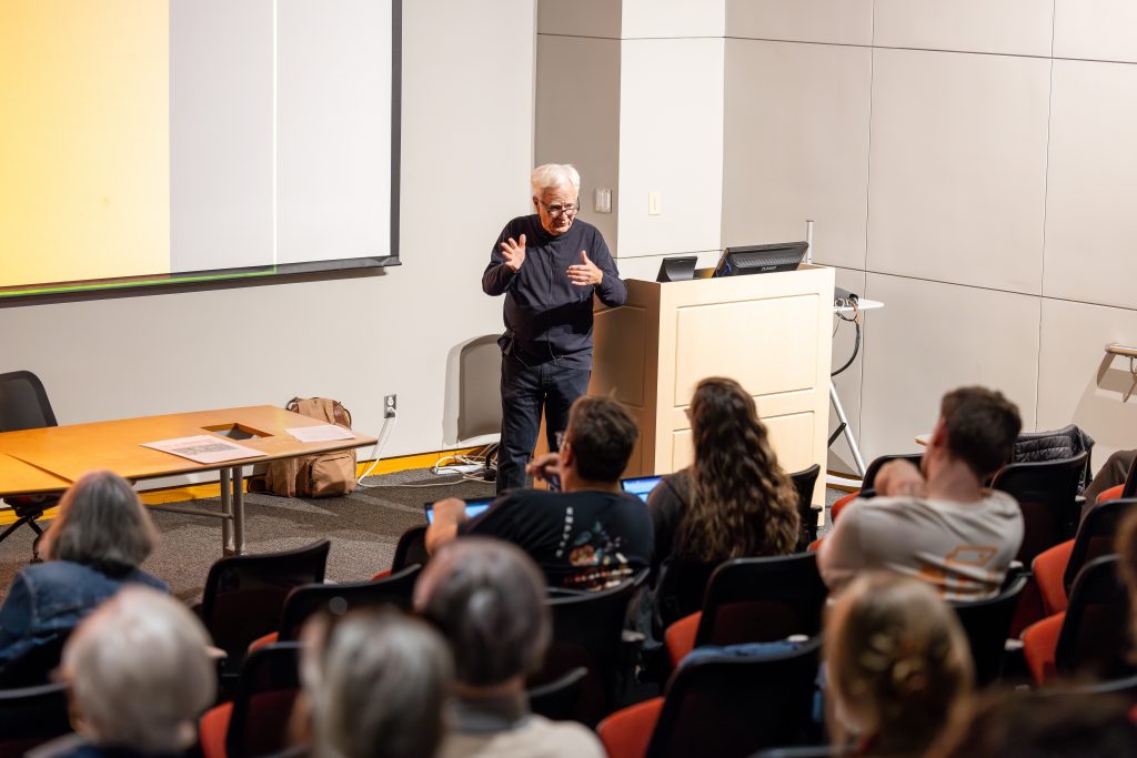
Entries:
{"label": "seated grey-haired person in blue denim jacket near the table", "polygon": [[59,645],[124,584],[165,591],[161,581],[139,569],[157,540],[150,515],[125,480],[96,472],[75,482],[43,534],[47,561],[22,568],[0,606],[0,670]]}

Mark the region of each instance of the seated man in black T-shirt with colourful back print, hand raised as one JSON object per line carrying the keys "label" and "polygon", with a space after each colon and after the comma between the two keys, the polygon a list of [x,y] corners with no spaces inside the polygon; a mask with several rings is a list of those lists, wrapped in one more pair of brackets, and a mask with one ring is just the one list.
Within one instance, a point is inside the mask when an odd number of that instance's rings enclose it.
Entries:
{"label": "seated man in black T-shirt with colourful back print, hand raised", "polygon": [[481,516],[466,520],[465,503],[434,503],[426,549],[459,534],[506,540],[528,552],[549,584],[603,590],[646,568],[652,560],[652,519],[634,495],[620,489],[639,431],[628,410],[608,398],[580,398],[568,410],[559,452],[530,464],[530,473],[563,492],[513,490]]}

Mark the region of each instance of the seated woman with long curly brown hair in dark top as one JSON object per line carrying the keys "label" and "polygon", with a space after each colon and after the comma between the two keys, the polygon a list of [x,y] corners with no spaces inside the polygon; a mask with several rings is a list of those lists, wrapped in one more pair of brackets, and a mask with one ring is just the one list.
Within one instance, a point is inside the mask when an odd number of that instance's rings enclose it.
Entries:
{"label": "seated woman with long curly brown hair in dark top", "polygon": [[778,465],[754,398],[733,380],[705,378],[689,415],[695,460],[664,476],[648,498],[655,563],[792,552],[797,491]]}

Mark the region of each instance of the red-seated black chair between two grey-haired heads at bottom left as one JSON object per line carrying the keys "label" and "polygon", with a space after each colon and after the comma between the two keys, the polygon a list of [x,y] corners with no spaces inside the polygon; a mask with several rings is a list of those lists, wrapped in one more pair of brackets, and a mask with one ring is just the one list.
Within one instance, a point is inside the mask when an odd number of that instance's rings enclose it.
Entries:
{"label": "red-seated black chair between two grey-haired heads at bottom left", "polygon": [[249,653],[232,702],[211,708],[198,725],[204,758],[248,758],[288,747],[288,728],[300,691],[299,642]]}

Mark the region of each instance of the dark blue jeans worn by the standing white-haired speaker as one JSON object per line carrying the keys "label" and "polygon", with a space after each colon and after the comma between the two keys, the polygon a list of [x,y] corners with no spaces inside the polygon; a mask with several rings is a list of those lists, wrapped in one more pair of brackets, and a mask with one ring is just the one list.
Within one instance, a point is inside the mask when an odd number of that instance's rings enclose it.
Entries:
{"label": "dark blue jeans worn by the standing white-haired speaker", "polygon": [[592,372],[570,368],[557,360],[525,365],[516,355],[501,356],[501,442],[498,448],[497,491],[525,486],[525,465],[533,456],[545,409],[549,450],[557,449],[557,432],[568,424],[568,407],[588,392]]}

